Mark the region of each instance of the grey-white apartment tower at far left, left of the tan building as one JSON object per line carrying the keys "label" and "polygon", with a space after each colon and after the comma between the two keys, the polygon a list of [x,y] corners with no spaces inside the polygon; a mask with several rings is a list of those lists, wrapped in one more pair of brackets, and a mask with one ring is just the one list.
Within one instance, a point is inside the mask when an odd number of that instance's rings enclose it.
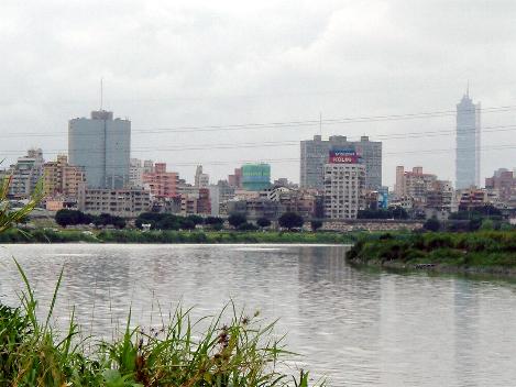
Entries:
{"label": "grey-white apartment tower at far left, left of the tan building", "polygon": [[26,156],[19,157],[17,164],[9,168],[11,185],[9,195],[14,198],[29,198],[35,190],[37,183],[43,177],[42,150],[29,150]]}

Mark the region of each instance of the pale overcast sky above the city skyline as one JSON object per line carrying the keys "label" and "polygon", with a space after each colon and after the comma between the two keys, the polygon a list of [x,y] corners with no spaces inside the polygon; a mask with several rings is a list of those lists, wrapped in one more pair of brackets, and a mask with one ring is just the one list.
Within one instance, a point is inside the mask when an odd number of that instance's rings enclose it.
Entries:
{"label": "pale overcast sky above the city skyline", "polygon": [[[299,141],[319,131],[382,140],[385,185],[396,165],[453,180],[469,82],[486,177],[516,167],[515,20],[513,0],[2,0],[0,157],[66,153],[102,78],[132,157],[187,181],[197,164],[216,183],[267,161],[298,181]],[[392,118],[421,112],[447,113]]]}

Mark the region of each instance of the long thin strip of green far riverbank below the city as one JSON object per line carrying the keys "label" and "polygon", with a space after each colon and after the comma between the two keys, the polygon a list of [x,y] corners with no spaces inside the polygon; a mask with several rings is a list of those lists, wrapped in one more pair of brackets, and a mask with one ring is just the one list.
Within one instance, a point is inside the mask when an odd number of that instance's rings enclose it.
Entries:
{"label": "long thin strip of green far riverbank below the city", "polygon": [[0,233],[0,243],[314,243],[350,244],[356,233],[276,231],[17,230]]}

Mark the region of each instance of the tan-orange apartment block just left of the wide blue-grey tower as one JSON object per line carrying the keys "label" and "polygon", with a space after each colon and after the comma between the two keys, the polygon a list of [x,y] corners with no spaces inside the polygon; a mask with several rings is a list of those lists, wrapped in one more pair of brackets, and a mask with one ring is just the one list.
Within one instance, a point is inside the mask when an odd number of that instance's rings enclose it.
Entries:
{"label": "tan-orange apartment block just left of the wide blue-grey tower", "polygon": [[46,197],[63,196],[77,200],[79,185],[85,181],[83,167],[69,165],[66,155],[58,155],[55,162],[43,164],[43,194]]}

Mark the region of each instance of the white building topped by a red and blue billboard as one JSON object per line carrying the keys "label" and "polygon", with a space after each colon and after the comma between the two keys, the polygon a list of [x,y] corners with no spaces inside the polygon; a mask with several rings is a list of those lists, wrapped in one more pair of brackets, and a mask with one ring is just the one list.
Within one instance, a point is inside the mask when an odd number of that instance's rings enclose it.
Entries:
{"label": "white building topped by a red and blue billboard", "polygon": [[329,161],[325,164],[325,218],[356,219],[364,209],[365,165],[354,156],[330,156]]}

